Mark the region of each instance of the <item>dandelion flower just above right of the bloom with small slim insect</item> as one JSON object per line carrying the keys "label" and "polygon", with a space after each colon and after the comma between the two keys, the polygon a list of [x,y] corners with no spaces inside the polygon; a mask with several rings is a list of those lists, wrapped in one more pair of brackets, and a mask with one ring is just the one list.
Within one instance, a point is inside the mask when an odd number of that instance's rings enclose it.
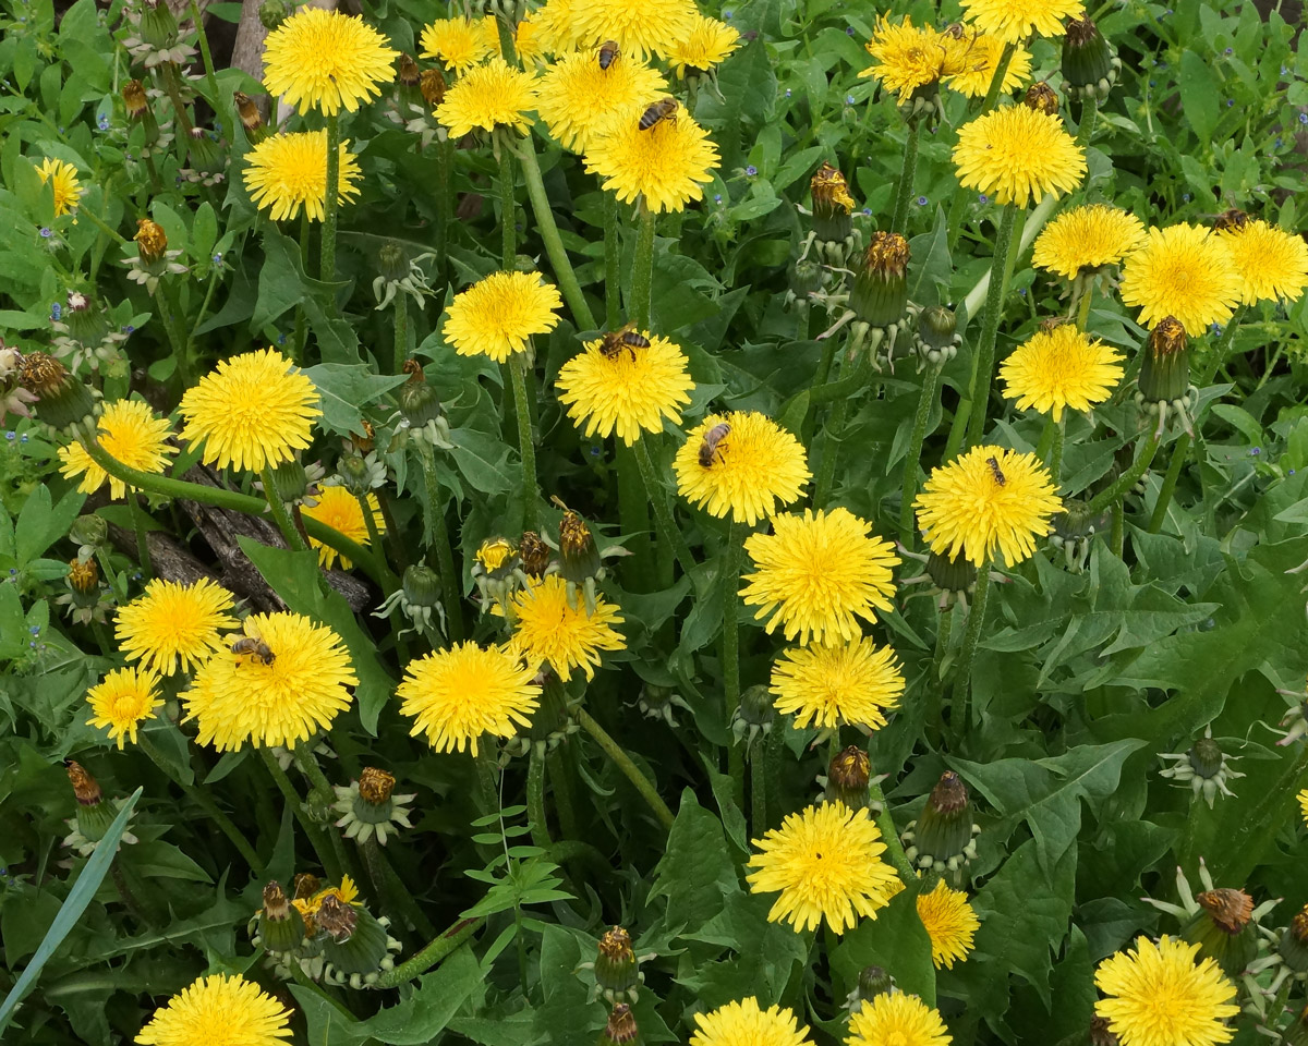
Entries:
{"label": "dandelion flower just above right of the bloom with small slim insect", "polygon": [[1088,411],[1122,379],[1122,354],[1073,324],[1036,331],[999,366],[1003,395],[1062,420],[1063,408]]}

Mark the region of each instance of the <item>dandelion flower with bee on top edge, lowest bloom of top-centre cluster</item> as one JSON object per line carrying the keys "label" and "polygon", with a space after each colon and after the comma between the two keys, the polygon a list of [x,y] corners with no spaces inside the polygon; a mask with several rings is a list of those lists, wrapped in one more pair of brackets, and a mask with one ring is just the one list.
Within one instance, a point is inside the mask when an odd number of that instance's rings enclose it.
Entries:
{"label": "dandelion flower with bee on top edge, lowest bloom of top-centre cluster", "polygon": [[598,174],[603,187],[624,203],[644,196],[645,207],[657,214],[683,211],[704,197],[704,186],[713,180],[712,171],[722,157],[709,132],[684,111],[641,131],[646,105],[613,115],[607,128],[591,139],[586,170]]}

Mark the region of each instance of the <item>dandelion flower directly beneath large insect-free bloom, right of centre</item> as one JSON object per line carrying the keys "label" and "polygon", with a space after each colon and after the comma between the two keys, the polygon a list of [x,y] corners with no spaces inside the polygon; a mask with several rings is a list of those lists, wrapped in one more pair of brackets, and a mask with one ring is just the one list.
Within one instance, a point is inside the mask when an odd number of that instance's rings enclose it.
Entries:
{"label": "dandelion flower directly beneath large insect-free bloom, right of centre", "polygon": [[787,650],[772,666],[769,693],[777,711],[795,717],[795,730],[810,724],[824,731],[880,730],[904,693],[904,673],[893,650],[859,635],[846,643]]}

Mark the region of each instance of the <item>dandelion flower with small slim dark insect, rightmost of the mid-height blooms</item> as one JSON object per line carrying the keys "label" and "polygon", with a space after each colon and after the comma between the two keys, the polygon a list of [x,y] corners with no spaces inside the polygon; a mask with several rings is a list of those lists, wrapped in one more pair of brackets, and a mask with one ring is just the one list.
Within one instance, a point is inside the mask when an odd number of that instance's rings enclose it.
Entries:
{"label": "dandelion flower with small slim dark insect, rightmost of the mid-height blooms", "polygon": [[973,447],[934,469],[913,503],[931,552],[954,560],[961,550],[976,566],[989,564],[995,548],[1016,566],[1062,510],[1036,455],[1001,447]]}

